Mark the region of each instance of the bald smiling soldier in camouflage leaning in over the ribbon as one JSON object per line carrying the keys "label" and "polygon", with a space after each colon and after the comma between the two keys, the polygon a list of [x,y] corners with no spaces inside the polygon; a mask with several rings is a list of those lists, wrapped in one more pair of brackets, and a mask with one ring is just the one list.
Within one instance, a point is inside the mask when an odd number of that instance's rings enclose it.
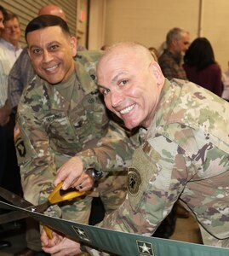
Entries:
{"label": "bald smiling soldier in camouflage leaning in over the ribbon", "polygon": [[[140,125],[142,139],[128,168],[126,200],[100,226],[151,236],[180,199],[197,218],[204,244],[229,247],[228,102],[197,84],[169,82],[135,43],[107,49],[97,79],[106,107],[130,130]],[[54,246],[42,238],[48,253],[70,244],[80,251],[72,241]]]}

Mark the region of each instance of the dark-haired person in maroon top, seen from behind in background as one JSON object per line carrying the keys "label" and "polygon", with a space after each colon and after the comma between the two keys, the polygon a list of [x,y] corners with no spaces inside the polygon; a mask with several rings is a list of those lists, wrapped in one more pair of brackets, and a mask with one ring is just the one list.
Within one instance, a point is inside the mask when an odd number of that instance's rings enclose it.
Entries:
{"label": "dark-haired person in maroon top, seen from behind in background", "polygon": [[184,56],[186,77],[218,96],[222,95],[220,66],[215,61],[214,50],[207,38],[196,38]]}

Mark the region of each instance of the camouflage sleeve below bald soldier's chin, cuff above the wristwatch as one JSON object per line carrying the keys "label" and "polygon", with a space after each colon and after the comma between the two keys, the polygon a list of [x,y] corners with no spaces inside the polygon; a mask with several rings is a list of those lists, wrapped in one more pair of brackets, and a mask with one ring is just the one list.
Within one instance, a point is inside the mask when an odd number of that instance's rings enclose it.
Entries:
{"label": "camouflage sleeve below bald soldier's chin, cuff above the wristwatch", "polygon": [[139,146],[137,132],[128,132],[114,121],[109,122],[106,136],[100,138],[97,147],[84,150],[77,155],[83,160],[83,168],[95,168],[101,172],[123,171],[129,166],[132,154]]}

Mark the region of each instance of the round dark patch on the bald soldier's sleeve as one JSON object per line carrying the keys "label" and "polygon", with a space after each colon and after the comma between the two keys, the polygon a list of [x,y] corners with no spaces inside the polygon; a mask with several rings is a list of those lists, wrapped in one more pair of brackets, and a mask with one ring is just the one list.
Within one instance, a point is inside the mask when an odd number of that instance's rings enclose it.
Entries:
{"label": "round dark patch on the bald soldier's sleeve", "polygon": [[140,188],[140,184],[141,184],[141,177],[140,177],[140,173],[138,172],[137,169],[135,169],[135,167],[128,168],[127,179],[128,179],[127,188],[128,188],[129,194],[137,195]]}

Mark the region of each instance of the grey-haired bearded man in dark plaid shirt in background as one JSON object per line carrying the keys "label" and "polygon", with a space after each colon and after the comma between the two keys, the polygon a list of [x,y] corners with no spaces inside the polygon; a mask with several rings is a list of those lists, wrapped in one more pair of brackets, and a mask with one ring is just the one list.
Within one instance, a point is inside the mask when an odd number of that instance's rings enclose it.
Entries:
{"label": "grey-haired bearded man in dark plaid shirt in background", "polygon": [[158,63],[167,79],[186,79],[182,67],[183,55],[190,44],[190,34],[175,27],[166,35],[166,49],[159,56]]}

